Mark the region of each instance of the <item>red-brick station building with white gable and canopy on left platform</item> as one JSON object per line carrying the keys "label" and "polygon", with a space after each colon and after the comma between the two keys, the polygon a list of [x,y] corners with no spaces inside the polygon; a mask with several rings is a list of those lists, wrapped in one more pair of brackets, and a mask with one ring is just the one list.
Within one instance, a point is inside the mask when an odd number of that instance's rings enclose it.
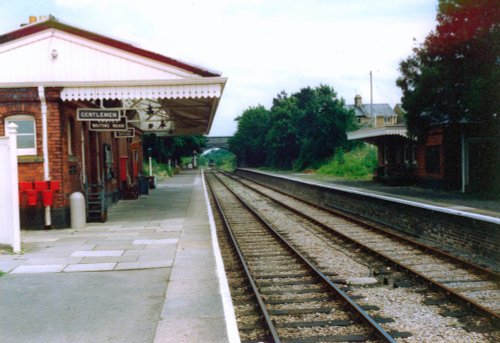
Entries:
{"label": "red-brick station building with white gable and canopy on left platform", "polygon": [[18,125],[21,227],[69,226],[73,192],[87,195],[89,220],[106,220],[137,195],[142,135],[208,134],[225,83],[52,16],[0,35],[0,136]]}

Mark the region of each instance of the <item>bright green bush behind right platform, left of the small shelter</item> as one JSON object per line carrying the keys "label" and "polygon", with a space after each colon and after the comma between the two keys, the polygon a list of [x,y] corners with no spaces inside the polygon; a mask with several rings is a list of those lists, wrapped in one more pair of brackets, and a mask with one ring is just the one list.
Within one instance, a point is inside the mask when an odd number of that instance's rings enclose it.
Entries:
{"label": "bright green bush behind right platform, left of the small shelter", "polygon": [[332,175],[347,179],[371,179],[377,167],[377,149],[372,146],[362,146],[345,152],[337,150],[334,157],[321,166],[316,173]]}

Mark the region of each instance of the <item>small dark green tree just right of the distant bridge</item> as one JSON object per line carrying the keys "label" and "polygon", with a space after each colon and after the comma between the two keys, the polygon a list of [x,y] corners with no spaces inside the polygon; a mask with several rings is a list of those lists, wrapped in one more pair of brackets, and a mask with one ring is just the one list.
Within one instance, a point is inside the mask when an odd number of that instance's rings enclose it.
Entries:
{"label": "small dark green tree just right of the distant bridge", "polygon": [[248,167],[264,165],[269,111],[261,105],[250,107],[235,120],[238,122],[237,131],[228,144],[238,156],[238,164]]}

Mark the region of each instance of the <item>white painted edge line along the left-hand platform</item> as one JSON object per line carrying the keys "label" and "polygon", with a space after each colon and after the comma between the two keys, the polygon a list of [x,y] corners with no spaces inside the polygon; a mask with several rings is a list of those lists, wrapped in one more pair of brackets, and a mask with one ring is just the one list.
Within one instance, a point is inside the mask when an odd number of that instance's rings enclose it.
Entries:
{"label": "white painted edge line along the left-hand platform", "polygon": [[224,317],[226,321],[226,329],[228,340],[231,343],[240,342],[240,334],[238,332],[238,324],[236,322],[236,316],[234,314],[233,301],[231,299],[231,292],[229,291],[229,284],[226,277],[226,272],[224,270],[224,262],[222,261],[222,255],[219,248],[219,243],[217,239],[214,215],[212,212],[212,207],[210,206],[210,201],[208,199],[208,192],[205,184],[205,173],[203,169],[201,170],[201,178],[203,183],[203,193],[205,195],[205,203],[207,205],[208,222],[210,223],[210,233],[212,236],[212,248],[214,250],[215,264],[217,268],[217,276],[219,278],[219,290],[222,297],[222,307],[224,309]]}

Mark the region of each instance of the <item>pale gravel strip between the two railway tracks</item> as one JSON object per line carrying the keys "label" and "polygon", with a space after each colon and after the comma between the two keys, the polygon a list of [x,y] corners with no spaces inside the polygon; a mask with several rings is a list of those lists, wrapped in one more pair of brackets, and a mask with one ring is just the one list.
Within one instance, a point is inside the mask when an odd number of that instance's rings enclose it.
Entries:
{"label": "pale gravel strip between the two railway tracks", "polygon": [[[342,247],[334,247],[331,242],[326,242],[316,235],[312,235],[304,228],[303,221],[297,220],[290,213],[278,212],[277,206],[256,196],[254,192],[239,190],[238,184],[229,182],[242,197],[250,200],[252,206],[262,213],[269,222],[276,225],[279,231],[286,232],[287,239],[301,251],[307,251],[313,261],[323,269],[338,273],[341,278],[361,277],[370,274],[370,267],[347,252]],[[289,203],[290,200],[287,200]],[[292,219],[293,218],[293,219]],[[339,224],[338,224],[339,223]],[[348,233],[353,224],[340,219],[335,221],[334,227]],[[411,253],[406,249],[405,253]],[[432,259],[431,259],[432,260]],[[445,270],[436,271],[433,264],[419,267],[419,270],[428,270],[432,275],[446,276]],[[460,273],[467,276],[467,273]],[[269,290],[278,290],[276,287],[268,287]],[[400,338],[398,342],[495,342],[496,334],[467,332],[461,328],[461,324],[455,318],[443,317],[438,306],[425,305],[422,301],[424,296],[416,293],[411,288],[359,288],[356,295],[363,297],[363,302],[380,307],[377,315],[390,317],[394,323],[382,324],[386,330],[407,331],[413,334],[409,338]],[[460,309],[460,307],[457,307]]]}

